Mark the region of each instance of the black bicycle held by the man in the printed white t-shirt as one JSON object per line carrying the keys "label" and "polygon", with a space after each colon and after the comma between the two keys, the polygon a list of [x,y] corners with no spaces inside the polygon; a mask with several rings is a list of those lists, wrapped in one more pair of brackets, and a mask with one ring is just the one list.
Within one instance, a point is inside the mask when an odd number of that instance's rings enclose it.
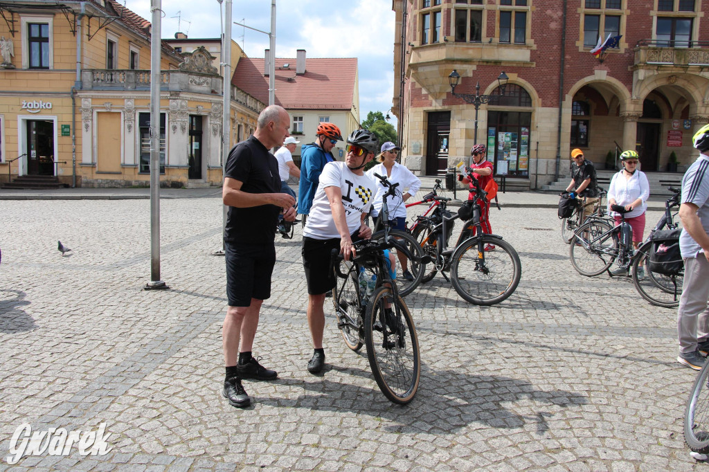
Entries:
{"label": "black bicycle held by the man in the printed white t-shirt", "polygon": [[[392,184],[389,191],[395,188],[396,184]],[[384,199],[382,211],[388,215],[386,195]],[[369,367],[379,389],[391,402],[406,405],[413,400],[421,376],[418,337],[411,311],[389,275],[390,263],[384,249],[407,249],[391,236],[386,225],[383,231],[380,240],[355,242],[357,255],[351,261],[345,261],[333,249],[337,280],[333,303],[337,327],[347,347],[358,352],[366,345]],[[359,288],[362,268],[376,274],[376,286],[369,299]]]}

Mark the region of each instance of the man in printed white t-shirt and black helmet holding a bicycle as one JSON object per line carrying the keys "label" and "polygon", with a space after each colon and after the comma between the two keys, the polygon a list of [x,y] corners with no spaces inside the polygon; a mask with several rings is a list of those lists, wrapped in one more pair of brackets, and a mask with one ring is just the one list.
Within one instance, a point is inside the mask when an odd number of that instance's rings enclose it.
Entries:
{"label": "man in printed white t-shirt and black helmet holding a bicycle", "polygon": [[372,207],[376,184],[364,175],[364,164],[374,159],[379,140],[371,131],[354,130],[347,137],[345,162],[328,162],[320,174],[310,215],[303,228],[303,267],[308,282],[308,326],[313,337],[308,371],[325,366],[325,293],[335,287],[330,253],[339,249],[345,260],[355,254],[353,241],[369,239],[372,230],[364,216]]}

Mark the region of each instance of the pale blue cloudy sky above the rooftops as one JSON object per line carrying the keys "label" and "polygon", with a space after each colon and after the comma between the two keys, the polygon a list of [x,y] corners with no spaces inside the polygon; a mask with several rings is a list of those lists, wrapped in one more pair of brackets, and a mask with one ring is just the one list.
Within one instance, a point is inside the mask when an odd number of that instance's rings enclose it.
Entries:
{"label": "pale blue cloudy sky above the rooftops", "polygon": [[[125,6],[152,21],[150,0],[125,0]],[[162,10],[162,38],[174,38],[178,30],[189,38],[221,35],[223,13],[218,0],[162,0]],[[249,57],[264,57],[268,36],[233,22],[270,30],[271,2],[233,0],[232,10],[232,39]],[[386,115],[391,108],[393,40],[391,0],[276,1],[276,57],[296,57],[297,49],[305,49],[306,57],[357,57],[360,122],[369,111]],[[396,127],[396,117],[389,114]]]}

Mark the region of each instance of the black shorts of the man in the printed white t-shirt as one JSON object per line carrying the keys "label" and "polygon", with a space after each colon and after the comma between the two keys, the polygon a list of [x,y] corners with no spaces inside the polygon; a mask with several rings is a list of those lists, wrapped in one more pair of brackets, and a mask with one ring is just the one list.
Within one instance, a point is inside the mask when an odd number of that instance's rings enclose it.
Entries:
{"label": "black shorts of the man in the printed white t-shirt", "polygon": [[[357,235],[359,229],[352,235],[352,242],[361,240]],[[330,240],[314,240],[312,237],[303,236],[301,255],[303,268],[306,270],[308,294],[322,295],[335,288],[335,272],[332,265],[332,252],[340,252],[340,238]]]}

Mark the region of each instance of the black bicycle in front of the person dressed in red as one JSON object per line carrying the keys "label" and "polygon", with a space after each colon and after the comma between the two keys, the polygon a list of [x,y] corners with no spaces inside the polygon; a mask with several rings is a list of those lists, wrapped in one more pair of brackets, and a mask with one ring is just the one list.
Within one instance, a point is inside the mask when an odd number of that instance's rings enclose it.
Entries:
{"label": "black bicycle in front of the person dressed in red", "polygon": [[[464,300],[475,305],[494,305],[506,300],[518,286],[522,274],[520,257],[515,249],[499,235],[482,232],[481,206],[479,200],[486,192],[480,188],[479,181],[474,182],[469,190],[474,195],[453,215],[446,209],[450,198],[434,196],[438,205],[431,216],[419,217],[414,237],[430,256],[434,267],[423,276],[428,282],[440,271],[446,281],[452,281],[455,291]],[[469,214],[467,213],[469,210]],[[448,241],[455,225],[454,220],[464,219],[456,245],[448,248]],[[475,228],[476,235],[471,235]],[[494,251],[485,250],[486,245],[496,246]],[[450,271],[450,279],[445,274]]]}

